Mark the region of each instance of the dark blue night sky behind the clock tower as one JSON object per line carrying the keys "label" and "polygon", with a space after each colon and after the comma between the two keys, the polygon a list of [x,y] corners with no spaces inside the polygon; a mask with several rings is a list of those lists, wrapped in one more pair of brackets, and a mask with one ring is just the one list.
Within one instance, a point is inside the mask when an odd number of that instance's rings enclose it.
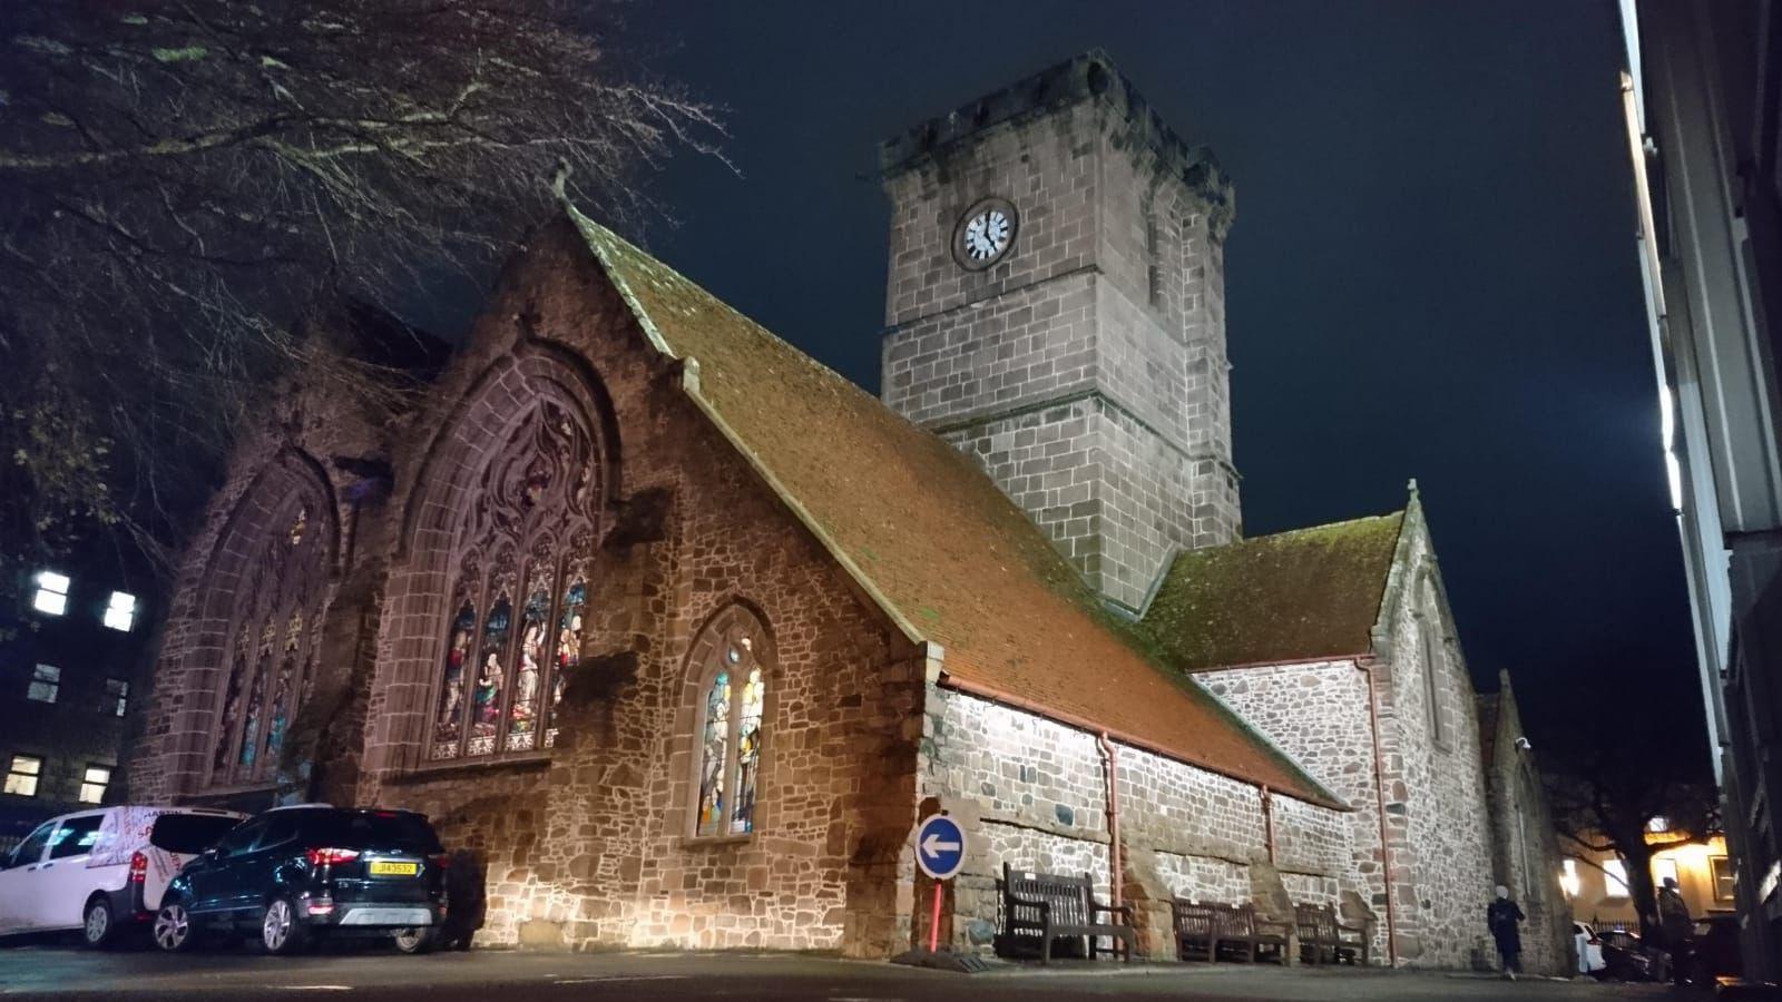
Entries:
{"label": "dark blue night sky behind the clock tower", "polygon": [[[693,4],[645,64],[727,109],[652,180],[666,262],[870,390],[877,143],[1101,46],[1237,182],[1226,253],[1246,535],[1415,476],[1481,688],[1538,742],[1629,694],[1702,758],[1659,453],[1613,4]],[[659,46],[659,48],[658,48]]]}

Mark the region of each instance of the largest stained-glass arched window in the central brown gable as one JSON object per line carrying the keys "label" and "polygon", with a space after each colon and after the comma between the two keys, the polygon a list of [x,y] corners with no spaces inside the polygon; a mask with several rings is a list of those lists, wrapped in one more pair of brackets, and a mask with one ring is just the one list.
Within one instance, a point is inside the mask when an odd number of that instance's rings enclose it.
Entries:
{"label": "largest stained-glass arched window in the central brown gable", "polygon": [[540,399],[483,469],[454,530],[429,760],[556,743],[556,708],[581,660],[593,462],[588,430]]}

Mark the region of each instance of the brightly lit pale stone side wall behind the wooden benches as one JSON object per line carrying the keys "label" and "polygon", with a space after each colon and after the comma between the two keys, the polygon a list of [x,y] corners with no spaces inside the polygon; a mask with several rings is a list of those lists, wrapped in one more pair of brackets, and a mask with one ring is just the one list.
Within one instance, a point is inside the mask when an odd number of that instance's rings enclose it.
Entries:
{"label": "brightly lit pale stone side wall behind the wooden benches", "polygon": [[[1174,956],[1171,897],[1267,904],[1281,883],[1329,893],[1340,881],[1349,858],[1340,811],[1274,797],[1271,866],[1256,786],[1128,745],[1116,754],[1124,899],[1146,954]],[[925,804],[957,817],[971,840],[952,891],[955,945],[991,947],[1003,863],[1089,874],[1108,897],[1107,779],[1094,735],[930,686],[920,770]],[[927,900],[925,886],[918,891]]]}

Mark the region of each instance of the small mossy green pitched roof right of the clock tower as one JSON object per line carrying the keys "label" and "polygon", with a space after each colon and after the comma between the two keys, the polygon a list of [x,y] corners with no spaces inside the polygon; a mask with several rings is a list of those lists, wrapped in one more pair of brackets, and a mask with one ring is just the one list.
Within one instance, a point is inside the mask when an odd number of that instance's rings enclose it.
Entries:
{"label": "small mossy green pitched roof right of the clock tower", "polygon": [[1144,626],[1183,670],[1365,654],[1404,512],[1185,551]]}

